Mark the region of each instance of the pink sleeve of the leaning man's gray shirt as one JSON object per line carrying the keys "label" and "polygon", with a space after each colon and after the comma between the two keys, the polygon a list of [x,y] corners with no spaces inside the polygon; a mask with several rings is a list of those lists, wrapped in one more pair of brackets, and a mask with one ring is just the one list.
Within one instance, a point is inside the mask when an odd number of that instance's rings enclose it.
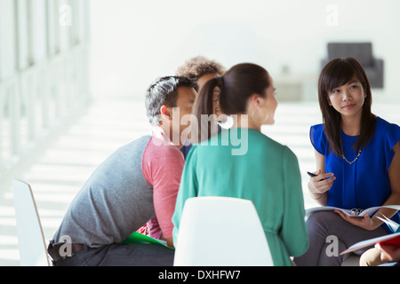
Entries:
{"label": "pink sleeve of the leaning man's gray shirt", "polygon": [[157,127],[146,146],[142,162],[143,176],[149,185],[153,185],[156,216],[148,221],[148,233],[152,238],[172,237],[172,215],[184,165],[183,154]]}

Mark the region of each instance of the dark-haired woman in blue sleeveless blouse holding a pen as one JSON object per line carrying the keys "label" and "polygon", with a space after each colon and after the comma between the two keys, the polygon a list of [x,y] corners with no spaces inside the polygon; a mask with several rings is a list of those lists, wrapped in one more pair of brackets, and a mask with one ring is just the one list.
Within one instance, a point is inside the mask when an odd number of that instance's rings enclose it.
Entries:
{"label": "dark-haired woman in blue sleeveless blouse holding a pen", "polygon": [[[400,204],[400,127],[371,112],[372,92],[363,67],[356,59],[334,59],[323,69],[318,99],[324,124],[311,127],[316,150],[316,177],[308,190],[319,204],[343,209],[367,209]],[[399,213],[380,209],[374,216]],[[340,265],[345,256],[336,252],[391,233],[376,217],[348,217],[339,210],[308,217],[310,248],[294,261],[298,265]],[[328,239],[327,239],[328,238]],[[333,249],[333,250],[332,250]],[[373,257],[373,256],[372,256]]]}

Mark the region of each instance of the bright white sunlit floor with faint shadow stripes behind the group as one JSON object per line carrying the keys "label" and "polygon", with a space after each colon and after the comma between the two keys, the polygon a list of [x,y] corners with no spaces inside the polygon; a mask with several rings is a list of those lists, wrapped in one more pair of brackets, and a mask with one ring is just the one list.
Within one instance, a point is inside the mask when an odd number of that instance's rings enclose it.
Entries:
{"label": "bright white sunlit floor with faint shadow stripes behind the group", "polygon": [[[393,105],[373,107],[375,114],[397,124],[399,109],[400,106]],[[308,130],[320,122],[316,103],[282,103],[276,110],[276,124],[263,128],[265,134],[289,146],[298,156],[306,208],[316,206],[307,193],[306,172],[316,170]],[[98,99],[40,161],[15,177],[32,185],[46,239],[52,238],[68,204],[100,162],[118,146],[148,133],[142,100]],[[0,190],[0,265],[19,265],[11,188]]]}

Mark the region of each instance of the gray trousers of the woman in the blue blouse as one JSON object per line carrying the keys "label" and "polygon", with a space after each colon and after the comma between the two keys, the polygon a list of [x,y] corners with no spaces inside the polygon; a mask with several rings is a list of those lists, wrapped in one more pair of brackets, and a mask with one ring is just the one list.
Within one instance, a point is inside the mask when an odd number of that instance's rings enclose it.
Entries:
{"label": "gray trousers of the woman in the blue blouse", "polygon": [[[309,248],[300,257],[293,259],[299,266],[340,266],[348,254],[340,252],[358,241],[384,236],[387,233],[381,227],[367,231],[351,225],[333,211],[319,211],[311,214],[307,220]],[[372,247],[369,247],[372,248]],[[357,251],[362,254],[368,248]]]}

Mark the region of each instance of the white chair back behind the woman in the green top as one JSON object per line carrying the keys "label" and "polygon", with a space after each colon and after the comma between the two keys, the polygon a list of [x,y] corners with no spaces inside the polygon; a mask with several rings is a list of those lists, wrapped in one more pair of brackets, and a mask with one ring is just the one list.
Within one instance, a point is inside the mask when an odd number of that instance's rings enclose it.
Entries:
{"label": "white chair back behind the woman in the green top", "polygon": [[252,201],[195,197],[185,202],[174,266],[273,266]]}

